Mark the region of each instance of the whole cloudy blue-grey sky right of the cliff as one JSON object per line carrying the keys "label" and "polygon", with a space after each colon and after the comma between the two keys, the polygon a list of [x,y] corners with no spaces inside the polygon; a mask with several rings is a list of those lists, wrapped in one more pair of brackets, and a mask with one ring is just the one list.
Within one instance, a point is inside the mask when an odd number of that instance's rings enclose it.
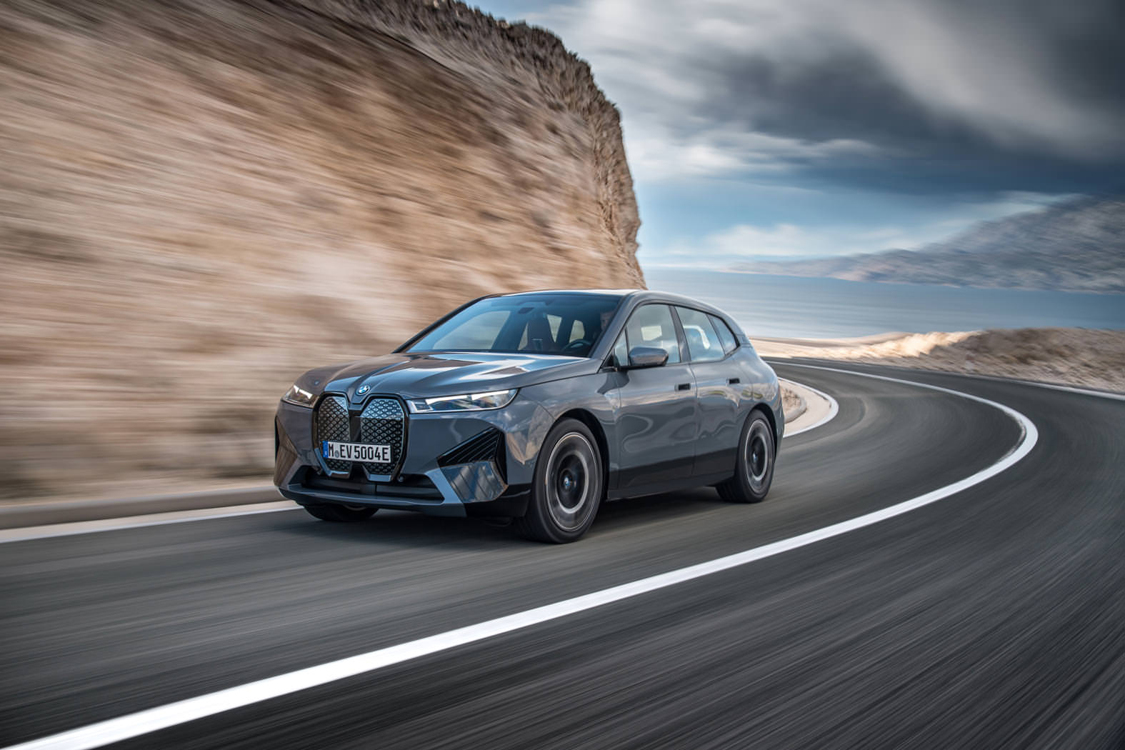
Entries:
{"label": "whole cloudy blue-grey sky right of the cliff", "polygon": [[488,0],[621,110],[644,268],[914,250],[1125,190],[1115,0]]}

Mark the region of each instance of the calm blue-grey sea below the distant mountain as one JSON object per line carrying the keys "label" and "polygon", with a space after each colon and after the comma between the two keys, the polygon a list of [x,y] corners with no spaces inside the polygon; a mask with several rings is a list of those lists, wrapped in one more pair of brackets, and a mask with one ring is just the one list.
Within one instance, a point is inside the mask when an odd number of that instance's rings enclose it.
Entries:
{"label": "calm blue-grey sea below the distant mountain", "polygon": [[1125,295],[645,269],[649,289],[724,310],[750,337],[843,338],[982,328],[1125,329]]}

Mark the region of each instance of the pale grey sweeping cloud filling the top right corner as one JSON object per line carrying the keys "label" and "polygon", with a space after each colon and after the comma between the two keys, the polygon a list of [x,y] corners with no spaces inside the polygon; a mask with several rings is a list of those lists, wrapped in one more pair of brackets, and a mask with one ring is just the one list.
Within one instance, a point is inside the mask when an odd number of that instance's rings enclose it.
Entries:
{"label": "pale grey sweeping cloud filling the top right corner", "polygon": [[1100,97],[1076,87],[1087,72],[1074,60],[1119,49],[1122,24],[1114,19],[1125,18],[1108,3],[915,0],[839,9],[832,20],[842,35],[934,118],[1005,147],[1096,157],[1125,145],[1119,53],[1112,67],[1095,71],[1100,81],[1087,81]]}

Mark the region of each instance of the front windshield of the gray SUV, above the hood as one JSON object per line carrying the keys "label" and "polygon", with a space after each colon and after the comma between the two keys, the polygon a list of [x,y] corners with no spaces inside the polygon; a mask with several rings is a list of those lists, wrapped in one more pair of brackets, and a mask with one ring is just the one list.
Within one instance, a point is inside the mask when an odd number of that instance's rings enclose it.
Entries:
{"label": "front windshield of the gray SUV, above the hood", "polygon": [[406,351],[590,356],[620,301],[611,295],[490,297],[466,307]]}

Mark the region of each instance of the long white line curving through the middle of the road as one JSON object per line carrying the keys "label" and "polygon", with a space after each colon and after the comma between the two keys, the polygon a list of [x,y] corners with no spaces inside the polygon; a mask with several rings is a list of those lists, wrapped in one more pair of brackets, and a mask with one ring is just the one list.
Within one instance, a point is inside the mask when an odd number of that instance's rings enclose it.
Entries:
{"label": "long white line curving through the middle of the road", "polygon": [[233,708],[249,706],[262,701],[269,701],[270,698],[277,698],[282,695],[297,693],[299,690],[306,690],[320,685],[326,685],[348,677],[354,677],[357,675],[362,675],[384,667],[410,661],[411,659],[439,653],[458,645],[465,645],[466,643],[474,643],[476,641],[502,635],[504,633],[511,633],[532,625],[550,622],[551,620],[558,620],[559,617],[566,617],[568,615],[593,609],[594,607],[600,607],[612,602],[620,602],[633,596],[655,591],[667,586],[683,584],[695,578],[710,576],[738,566],[745,566],[746,563],[754,562],[755,560],[762,560],[763,558],[795,550],[808,544],[831,539],[832,536],[846,534],[857,528],[863,528],[864,526],[876,524],[881,521],[886,521],[888,518],[893,518],[894,516],[909,513],[925,505],[929,505],[930,503],[936,503],[937,500],[950,497],[951,495],[960,493],[963,489],[979,485],[986,479],[994,477],[1005,469],[1014,466],[1027,455],[1038,440],[1038,431],[1035,428],[1035,424],[1032,423],[1030,419],[1019,412],[1005,406],[1004,404],[990,401],[987,398],[972,396],[970,394],[962,394],[961,391],[950,390],[948,388],[939,388],[927,383],[899,380],[898,378],[888,378],[885,376],[867,374],[866,372],[852,372],[848,370],[836,370],[835,368],[816,369],[832,370],[864,378],[901,382],[909,386],[916,386],[918,388],[927,388],[945,394],[953,394],[954,396],[968,398],[973,401],[980,401],[981,404],[987,404],[1000,409],[1015,419],[1023,431],[1023,436],[1019,443],[1002,459],[987,469],[978,471],[971,477],[966,477],[961,481],[953,482],[952,485],[935,489],[930,493],[926,493],[925,495],[919,495],[918,497],[903,503],[898,503],[881,510],[875,510],[874,513],[868,513],[849,521],[825,526],[824,528],[818,528],[799,536],[757,546],[753,550],[738,552],[724,558],[711,560],[709,562],[701,562],[687,568],[681,568],[680,570],[673,570],[666,573],[651,576],[649,578],[642,578],[631,584],[623,584],[621,586],[614,586],[601,591],[594,591],[593,594],[577,596],[573,599],[566,599],[564,602],[548,604],[542,607],[536,607],[534,609],[528,609],[526,612],[507,615],[506,617],[497,617],[496,620],[489,620],[476,625],[458,627],[457,630],[439,633],[436,635],[418,639],[416,641],[410,641],[408,643],[400,643],[398,645],[378,649],[368,653],[340,659],[339,661],[331,661],[325,665],[299,669],[287,675],[269,677],[254,683],[248,683],[246,685],[218,690],[217,693],[201,695],[196,698],[188,698],[187,701],[178,701],[156,708],[148,708],[147,711],[141,711],[126,716],[119,716],[117,719],[110,719],[108,721],[98,722],[88,726],[61,732],[58,734],[52,734],[51,737],[39,740],[11,746],[7,750],[87,750],[88,748],[100,748],[112,742],[120,742],[134,737],[147,734],[148,732],[155,732],[169,726],[176,726],[178,724],[183,724],[197,719],[204,719],[206,716],[212,716]]}

